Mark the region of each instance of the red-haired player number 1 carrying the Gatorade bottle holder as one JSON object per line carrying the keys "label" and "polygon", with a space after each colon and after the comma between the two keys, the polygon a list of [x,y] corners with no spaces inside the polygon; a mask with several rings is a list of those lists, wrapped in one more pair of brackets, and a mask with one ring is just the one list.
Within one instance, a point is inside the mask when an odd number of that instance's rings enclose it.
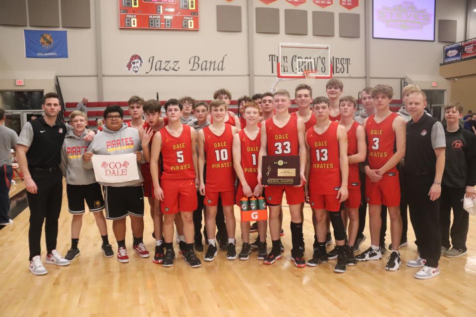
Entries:
{"label": "red-haired player number 1 carrying the Gatorade bottle holder", "polygon": [[[243,117],[246,125],[233,138],[233,164],[238,176],[237,205],[243,196],[260,197],[263,187],[258,183],[258,154],[261,142],[261,131],[258,127],[259,106],[248,102],[243,106]],[[267,221],[257,221],[259,231],[258,260],[264,260],[266,250]],[[249,222],[241,222],[241,240],[243,245],[238,254],[239,260],[248,260],[251,253],[249,245]]]}

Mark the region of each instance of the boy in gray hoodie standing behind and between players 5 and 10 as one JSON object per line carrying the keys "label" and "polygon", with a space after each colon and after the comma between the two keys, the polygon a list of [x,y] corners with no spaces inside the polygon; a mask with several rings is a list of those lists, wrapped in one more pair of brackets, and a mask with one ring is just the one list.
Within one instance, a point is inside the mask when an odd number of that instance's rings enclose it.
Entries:
{"label": "boy in gray hoodie standing behind and between players 5 and 10", "polygon": [[[191,126],[195,129],[195,132],[198,133],[201,129],[206,126],[210,125],[210,121],[208,121],[208,104],[199,101],[193,106],[193,114],[194,118],[187,123],[187,125]],[[198,141],[198,138],[197,138]],[[198,153],[198,142],[196,146],[196,151]],[[205,176],[206,177],[206,176]],[[203,206],[203,197],[200,195],[200,192],[197,188],[197,209],[193,211],[193,226],[195,228],[195,251],[202,252],[203,251],[203,243],[202,243],[202,212],[205,215],[205,209]],[[207,237],[205,237],[205,241]]]}

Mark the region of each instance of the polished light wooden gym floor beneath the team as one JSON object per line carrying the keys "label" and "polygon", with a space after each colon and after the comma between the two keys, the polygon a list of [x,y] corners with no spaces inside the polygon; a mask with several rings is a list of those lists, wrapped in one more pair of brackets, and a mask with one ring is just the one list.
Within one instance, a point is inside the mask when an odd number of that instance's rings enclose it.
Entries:
{"label": "polished light wooden gym floor beneath the team", "polygon": [[[16,186],[15,191],[24,187],[22,182]],[[141,259],[133,252],[129,222],[126,245],[130,262],[120,264],[116,257],[102,255],[94,217],[86,213],[79,241],[81,256],[66,267],[45,264],[48,274],[34,276],[27,261],[27,208],[13,225],[0,231],[0,316],[476,316],[475,217],[470,216],[468,255],[442,257],[439,276],[416,280],[413,275],[417,269],[406,266],[416,255],[413,242],[401,249],[403,265],[396,272],[385,271],[387,256],[348,267],[344,274],[333,272],[335,260],[317,267],[295,267],[289,260],[288,208],[284,211],[286,234],[282,240],[286,251],[273,265],[257,261],[256,251],[248,261],[227,261],[226,252],[219,251],[215,261],[202,261],[200,268],[190,268],[181,258],[173,267],[165,268],[154,264],[152,257]],[[304,213],[308,259],[313,241],[310,208]],[[238,207],[235,214],[239,219]],[[70,246],[70,220],[63,193],[58,235],[62,255]],[[112,221],[108,221],[108,230],[116,256]],[[153,254],[151,232],[146,204],[144,242]],[[368,223],[364,233],[367,240],[361,249],[370,243]],[[236,236],[239,252],[239,226]],[[255,236],[251,234],[253,241]],[[410,227],[408,240],[414,238]],[[44,261],[44,236],[42,248]],[[203,259],[203,253],[197,254]]]}

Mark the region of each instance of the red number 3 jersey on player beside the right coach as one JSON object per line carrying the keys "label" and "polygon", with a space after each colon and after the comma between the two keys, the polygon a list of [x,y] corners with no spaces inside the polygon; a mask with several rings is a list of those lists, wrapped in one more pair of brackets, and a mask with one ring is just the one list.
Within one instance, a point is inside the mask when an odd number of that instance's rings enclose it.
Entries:
{"label": "red number 3 jersey on player beside the right coach", "polygon": [[[371,169],[379,169],[395,153],[396,140],[392,124],[396,117],[398,114],[392,112],[382,122],[377,123],[374,113],[367,119],[365,135],[367,136],[368,165]],[[397,168],[393,166],[385,174],[388,173],[397,173]]]}

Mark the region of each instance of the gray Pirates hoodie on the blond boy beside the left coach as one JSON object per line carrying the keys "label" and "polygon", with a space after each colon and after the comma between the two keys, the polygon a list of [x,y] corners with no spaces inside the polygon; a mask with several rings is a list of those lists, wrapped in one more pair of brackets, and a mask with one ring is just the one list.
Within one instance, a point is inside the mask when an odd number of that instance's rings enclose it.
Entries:
{"label": "gray Pirates hoodie on the blond boy beside the left coach", "polygon": [[63,176],[66,177],[66,184],[89,185],[96,183],[94,171],[83,167],[82,155],[89,146],[89,142],[83,140],[86,134],[88,131],[84,130],[81,136],[77,137],[74,135],[74,131],[70,130],[64,137],[60,169]]}

